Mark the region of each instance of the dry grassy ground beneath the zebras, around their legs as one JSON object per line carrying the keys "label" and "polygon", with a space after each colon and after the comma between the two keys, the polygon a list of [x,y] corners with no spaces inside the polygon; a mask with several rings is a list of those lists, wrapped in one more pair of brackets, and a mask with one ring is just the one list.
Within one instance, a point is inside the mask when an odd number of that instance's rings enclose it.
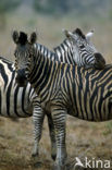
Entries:
{"label": "dry grassy ground beneath the zebras, around their legs", "polygon": [[[34,144],[32,118],[12,121],[0,118],[0,170],[50,170],[50,139],[47,120],[40,142],[40,156],[30,157]],[[112,162],[112,122],[91,123],[69,117],[66,124],[67,167],[75,170],[75,157],[84,162],[105,160]],[[92,162],[91,162],[92,163]],[[101,165],[99,165],[98,170]],[[111,170],[109,168],[109,170]]]}

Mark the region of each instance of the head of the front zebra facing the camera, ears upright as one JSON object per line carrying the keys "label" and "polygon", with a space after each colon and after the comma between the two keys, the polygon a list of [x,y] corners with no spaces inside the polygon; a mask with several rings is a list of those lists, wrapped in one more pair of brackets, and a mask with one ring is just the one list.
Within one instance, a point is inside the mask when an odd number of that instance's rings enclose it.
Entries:
{"label": "head of the front zebra facing the camera, ears upright", "polygon": [[27,75],[33,70],[34,64],[34,53],[35,53],[35,46],[34,44],[37,40],[37,34],[33,32],[30,37],[27,37],[27,34],[24,32],[17,33],[16,31],[12,34],[13,41],[16,45],[14,56],[15,56],[15,71],[16,75],[16,83],[20,86],[25,86],[27,83]]}

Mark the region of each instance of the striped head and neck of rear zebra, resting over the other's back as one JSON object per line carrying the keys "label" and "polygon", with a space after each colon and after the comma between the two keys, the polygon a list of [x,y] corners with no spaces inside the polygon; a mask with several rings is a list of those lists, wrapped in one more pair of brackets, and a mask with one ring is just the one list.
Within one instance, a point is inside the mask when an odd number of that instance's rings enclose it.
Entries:
{"label": "striped head and neck of rear zebra, resting over the other's back", "polygon": [[[53,48],[53,51],[49,51],[43,45],[35,44],[35,48],[40,50],[48,56],[51,60],[57,60],[60,62],[69,64],[77,64],[78,66],[92,68],[96,66],[96,56],[98,54],[97,49],[90,41],[92,32],[83,35],[79,28],[75,29],[73,33],[65,31],[66,39],[63,40],[58,47]],[[78,37],[77,40],[70,38],[69,34]],[[82,33],[82,34],[80,34]],[[73,38],[74,38],[73,37]],[[54,54],[55,53],[55,54]],[[100,54],[101,56],[101,54]],[[100,65],[98,65],[100,69]]]}

